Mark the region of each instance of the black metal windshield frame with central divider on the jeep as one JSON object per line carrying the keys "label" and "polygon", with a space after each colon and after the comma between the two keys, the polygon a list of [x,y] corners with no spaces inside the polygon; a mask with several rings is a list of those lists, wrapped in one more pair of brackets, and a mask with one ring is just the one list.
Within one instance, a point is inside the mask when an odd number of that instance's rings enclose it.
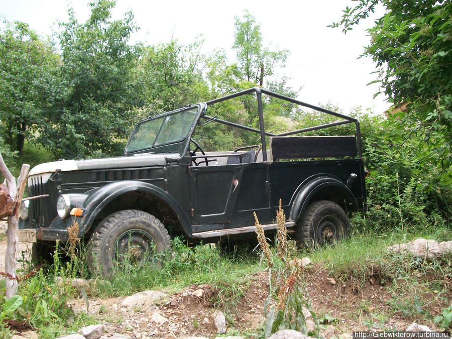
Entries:
{"label": "black metal windshield frame with central divider on the jeep", "polygon": [[[202,112],[205,112],[205,103],[197,103],[189,106],[185,106],[183,108],[178,108],[169,112],[165,112],[162,114],[159,114],[157,116],[148,117],[142,121],[140,121],[132,131],[129,140],[126,144],[126,147],[124,149],[125,155],[134,155],[134,154],[140,154],[140,153],[178,153],[180,156],[183,156],[189,147],[190,138],[193,134],[194,128],[196,127],[197,122],[199,121],[199,118],[201,116]],[[183,136],[181,136],[178,140],[170,140],[168,142],[162,142],[159,143],[159,138],[161,136],[162,130],[164,129],[165,124],[168,123],[168,118],[181,114],[184,111],[193,110],[193,108],[197,108],[194,119],[192,124],[189,126],[189,129],[187,133],[185,133]],[[133,137],[139,132],[139,129],[143,126],[143,124],[161,120],[160,127],[156,125],[158,128],[155,132],[155,138],[152,142],[152,145],[147,145],[142,148],[132,148],[130,147],[131,143],[133,142]],[[167,125],[168,126],[168,125]],[[151,143],[149,143],[151,144]]]}

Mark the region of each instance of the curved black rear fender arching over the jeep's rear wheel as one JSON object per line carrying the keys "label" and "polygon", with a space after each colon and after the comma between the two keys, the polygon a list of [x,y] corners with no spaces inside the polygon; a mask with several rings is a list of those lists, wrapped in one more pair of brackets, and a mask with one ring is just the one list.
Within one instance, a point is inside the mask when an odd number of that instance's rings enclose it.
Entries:
{"label": "curved black rear fender arching over the jeep's rear wheel", "polygon": [[320,189],[326,187],[336,187],[341,189],[345,193],[345,195],[349,197],[354,207],[358,209],[358,202],[356,201],[355,196],[346,184],[344,184],[337,178],[322,176],[310,180],[309,182],[304,184],[304,186],[298,189],[298,193],[296,193],[296,196],[293,199],[292,208],[290,210],[290,220],[298,222],[301,219],[306,206],[308,205],[314,194]]}

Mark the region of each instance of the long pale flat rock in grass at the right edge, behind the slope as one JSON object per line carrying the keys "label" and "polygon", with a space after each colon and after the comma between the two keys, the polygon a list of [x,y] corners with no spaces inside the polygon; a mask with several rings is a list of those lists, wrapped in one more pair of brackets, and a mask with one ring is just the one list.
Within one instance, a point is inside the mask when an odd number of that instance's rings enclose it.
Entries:
{"label": "long pale flat rock in grass at the right edge, behind the slope", "polygon": [[410,253],[417,258],[433,259],[452,253],[452,241],[438,243],[432,239],[416,239],[406,244],[388,247],[388,252]]}

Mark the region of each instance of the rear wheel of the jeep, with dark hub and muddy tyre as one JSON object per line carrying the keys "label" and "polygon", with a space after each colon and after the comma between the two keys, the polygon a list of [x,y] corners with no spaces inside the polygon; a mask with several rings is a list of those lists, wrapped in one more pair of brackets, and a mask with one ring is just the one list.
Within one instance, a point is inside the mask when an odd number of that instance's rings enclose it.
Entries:
{"label": "rear wheel of the jeep, with dark hub and muddy tyre", "polygon": [[341,206],[329,200],[310,203],[297,223],[296,237],[307,247],[333,244],[347,238],[350,222]]}

